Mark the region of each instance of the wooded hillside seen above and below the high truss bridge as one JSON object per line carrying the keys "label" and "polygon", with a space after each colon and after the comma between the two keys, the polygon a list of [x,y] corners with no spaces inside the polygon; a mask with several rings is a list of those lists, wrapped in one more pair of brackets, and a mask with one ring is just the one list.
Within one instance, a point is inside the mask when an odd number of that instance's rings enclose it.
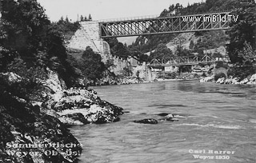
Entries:
{"label": "wooded hillside seen above and below the high truss bridge", "polygon": [[[160,17],[232,10],[239,3],[235,0],[206,0],[206,2],[189,4],[186,7],[177,3],[176,5],[170,5],[168,10],[163,10]],[[150,51],[154,52],[158,45],[165,44],[173,54],[177,53],[178,46],[182,46],[182,50],[189,50],[190,53],[202,54],[203,50],[218,49],[220,46],[225,46],[227,39],[225,31],[221,30],[186,34],[159,34],[140,36],[129,47],[130,49],[140,50],[142,53],[150,55]]]}

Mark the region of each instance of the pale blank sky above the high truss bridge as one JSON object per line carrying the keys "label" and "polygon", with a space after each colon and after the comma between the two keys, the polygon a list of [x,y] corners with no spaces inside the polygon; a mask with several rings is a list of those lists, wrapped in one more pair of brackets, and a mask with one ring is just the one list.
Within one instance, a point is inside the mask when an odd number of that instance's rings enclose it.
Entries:
{"label": "pale blank sky above the high truss bridge", "polygon": [[[128,18],[146,15],[159,15],[171,4],[180,3],[187,6],[188,2],[202,0],[38,0],[46,9],[51,21],[58,21],[62,16],[76,21],[79,15],[91,14],[93,20],[110,18]],[[205,0],[204,0],[205,2]]]}

